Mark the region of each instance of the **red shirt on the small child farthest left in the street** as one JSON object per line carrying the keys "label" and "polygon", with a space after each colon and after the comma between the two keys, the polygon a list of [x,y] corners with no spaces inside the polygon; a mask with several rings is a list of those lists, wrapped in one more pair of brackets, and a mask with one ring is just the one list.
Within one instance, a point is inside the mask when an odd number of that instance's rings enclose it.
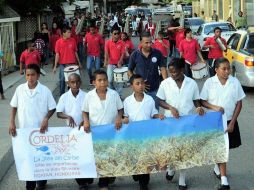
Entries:
{"label": "red shirt on the small child farthest left in the street", "polygon": [[37,50],[34,50],[32,52],[29,52],[28,50],[25,50],[22,52],[20,56],[20,62],[25,63],[25,65],[29,64],[40,64],[41,56]]}

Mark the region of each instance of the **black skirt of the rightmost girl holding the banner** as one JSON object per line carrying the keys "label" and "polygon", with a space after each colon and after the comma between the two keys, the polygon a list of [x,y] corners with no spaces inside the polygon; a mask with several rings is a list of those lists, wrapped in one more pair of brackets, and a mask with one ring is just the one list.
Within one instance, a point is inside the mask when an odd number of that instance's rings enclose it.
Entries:
{"label": "black skirt of the rightmost girl holding the banner", "polygon": [[[229,124],[230,121],[228,121],[227,123]],[[242,144],[240,130],[237,121],[235,122],[234,131],[232,133],[228,133],[228,138],[229,138],[229,149],[237,148]]]}

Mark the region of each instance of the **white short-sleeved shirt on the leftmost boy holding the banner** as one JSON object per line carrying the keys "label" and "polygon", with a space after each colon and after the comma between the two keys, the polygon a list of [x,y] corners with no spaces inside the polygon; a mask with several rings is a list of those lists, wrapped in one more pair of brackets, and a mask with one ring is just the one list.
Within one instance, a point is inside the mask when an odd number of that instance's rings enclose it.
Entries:
{"label": "white short-sleeved shirt on the leftmost boy holding the banner", "polygon": [[18,109],[20,128],[39,128],[48,111],[56,108],[51,91],[39,81],[32,94],[28,83],[19,85],[10,105]]}

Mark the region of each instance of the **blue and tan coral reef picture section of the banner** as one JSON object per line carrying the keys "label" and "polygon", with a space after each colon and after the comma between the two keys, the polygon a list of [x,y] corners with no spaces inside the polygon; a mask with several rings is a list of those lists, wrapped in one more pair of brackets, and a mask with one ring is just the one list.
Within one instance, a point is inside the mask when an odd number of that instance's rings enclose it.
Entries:
{"label": "blue and tan coral reef picture section of the banner", "polygon": [[98,176],[156,173],[228,160],[226,122],[219,112],[92,129]]}

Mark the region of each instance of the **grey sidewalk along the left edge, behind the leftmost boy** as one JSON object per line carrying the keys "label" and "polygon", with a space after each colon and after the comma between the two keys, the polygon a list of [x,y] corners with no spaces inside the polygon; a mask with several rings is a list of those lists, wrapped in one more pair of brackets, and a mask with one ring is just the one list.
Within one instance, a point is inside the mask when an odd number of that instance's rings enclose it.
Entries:
{"label": "grey sidewalk along the left edge, behind the leftmost boy", "polygon": [[[47,75],[41,76],[39,80],[53,92],[57,87],[58,73],[53,74],[51,65],[45,66],[44,70]],[[0,100],[0,181],[14,162],[11,137],[8,135],[10,101],[16,87],[25,82],[25,77],[17,71],[4,76],[2,81],[6,99]]]}

